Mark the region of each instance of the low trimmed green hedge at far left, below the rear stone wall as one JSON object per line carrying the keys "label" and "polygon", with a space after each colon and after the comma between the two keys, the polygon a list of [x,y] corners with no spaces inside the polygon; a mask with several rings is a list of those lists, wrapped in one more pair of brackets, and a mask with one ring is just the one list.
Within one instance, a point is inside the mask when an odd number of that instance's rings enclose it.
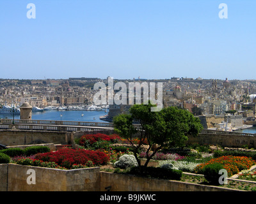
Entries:
{"label": "low trimmed green hedge at far left, below the rear stone wall", "polygon": [[25,149],[20,149],[20,148],[8,148],[8,149],[3,149],[0,150],[0,152],[7,154],[10,157],[15,157],[15,156],[31,156],[33,154],[37,153],[44,153],[44,152],[50,152],[49,147],[46,146],[31,146],[31,147],[26,147]]}

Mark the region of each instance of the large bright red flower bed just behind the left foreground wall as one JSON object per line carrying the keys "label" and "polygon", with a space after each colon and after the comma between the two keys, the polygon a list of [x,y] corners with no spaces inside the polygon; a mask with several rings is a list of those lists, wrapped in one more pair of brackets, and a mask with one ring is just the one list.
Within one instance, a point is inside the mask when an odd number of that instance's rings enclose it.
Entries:
{"label": "large bright red flower bed just behind the left foreground wall", "polygon": [[36,154],[35,159],[54,162],[67,169],[70,169],[74,164],[88,166],[88,163],[92,163],[92,166],[97,166],[109,161],[109,157],[104,152],[84,149],[61,149],[57,152]]}

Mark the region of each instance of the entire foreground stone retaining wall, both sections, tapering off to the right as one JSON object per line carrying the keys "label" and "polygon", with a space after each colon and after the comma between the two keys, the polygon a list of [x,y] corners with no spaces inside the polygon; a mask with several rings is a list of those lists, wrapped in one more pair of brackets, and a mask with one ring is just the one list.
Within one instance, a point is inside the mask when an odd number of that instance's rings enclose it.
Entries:
{"label": "entire foreground stone retaining wall, both sections, tapering off to the right", "polygon": [[[29,184],[35,170],[35,184]],[[28,181],[27,181],[28,180]],[[236,191],[176,180],[149,179],[100,172],[99,167],[58,170],[19,164],[0,164],[0,191]]]}

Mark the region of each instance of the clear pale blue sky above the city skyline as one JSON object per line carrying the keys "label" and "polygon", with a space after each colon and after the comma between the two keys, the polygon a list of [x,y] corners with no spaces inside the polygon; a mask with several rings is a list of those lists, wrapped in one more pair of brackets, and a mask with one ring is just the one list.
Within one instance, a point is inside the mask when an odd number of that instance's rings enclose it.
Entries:
{"label": "clear pale blue sky above the city skyline", "polygon": [[255,8],[253,0],[1,0],[0,78],[255,79]]}

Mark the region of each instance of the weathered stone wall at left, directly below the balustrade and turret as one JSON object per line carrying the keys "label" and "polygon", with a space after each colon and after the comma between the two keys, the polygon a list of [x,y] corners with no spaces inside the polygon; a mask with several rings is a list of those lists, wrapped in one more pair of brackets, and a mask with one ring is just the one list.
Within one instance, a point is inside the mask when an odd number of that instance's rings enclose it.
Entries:
{"label": "weathered stone wall at left, directly below the balustrade and turret", "polygon": [[5,146],[38,143],[70,144],[72,133],[61,131],[0,130],[0,143]]}

